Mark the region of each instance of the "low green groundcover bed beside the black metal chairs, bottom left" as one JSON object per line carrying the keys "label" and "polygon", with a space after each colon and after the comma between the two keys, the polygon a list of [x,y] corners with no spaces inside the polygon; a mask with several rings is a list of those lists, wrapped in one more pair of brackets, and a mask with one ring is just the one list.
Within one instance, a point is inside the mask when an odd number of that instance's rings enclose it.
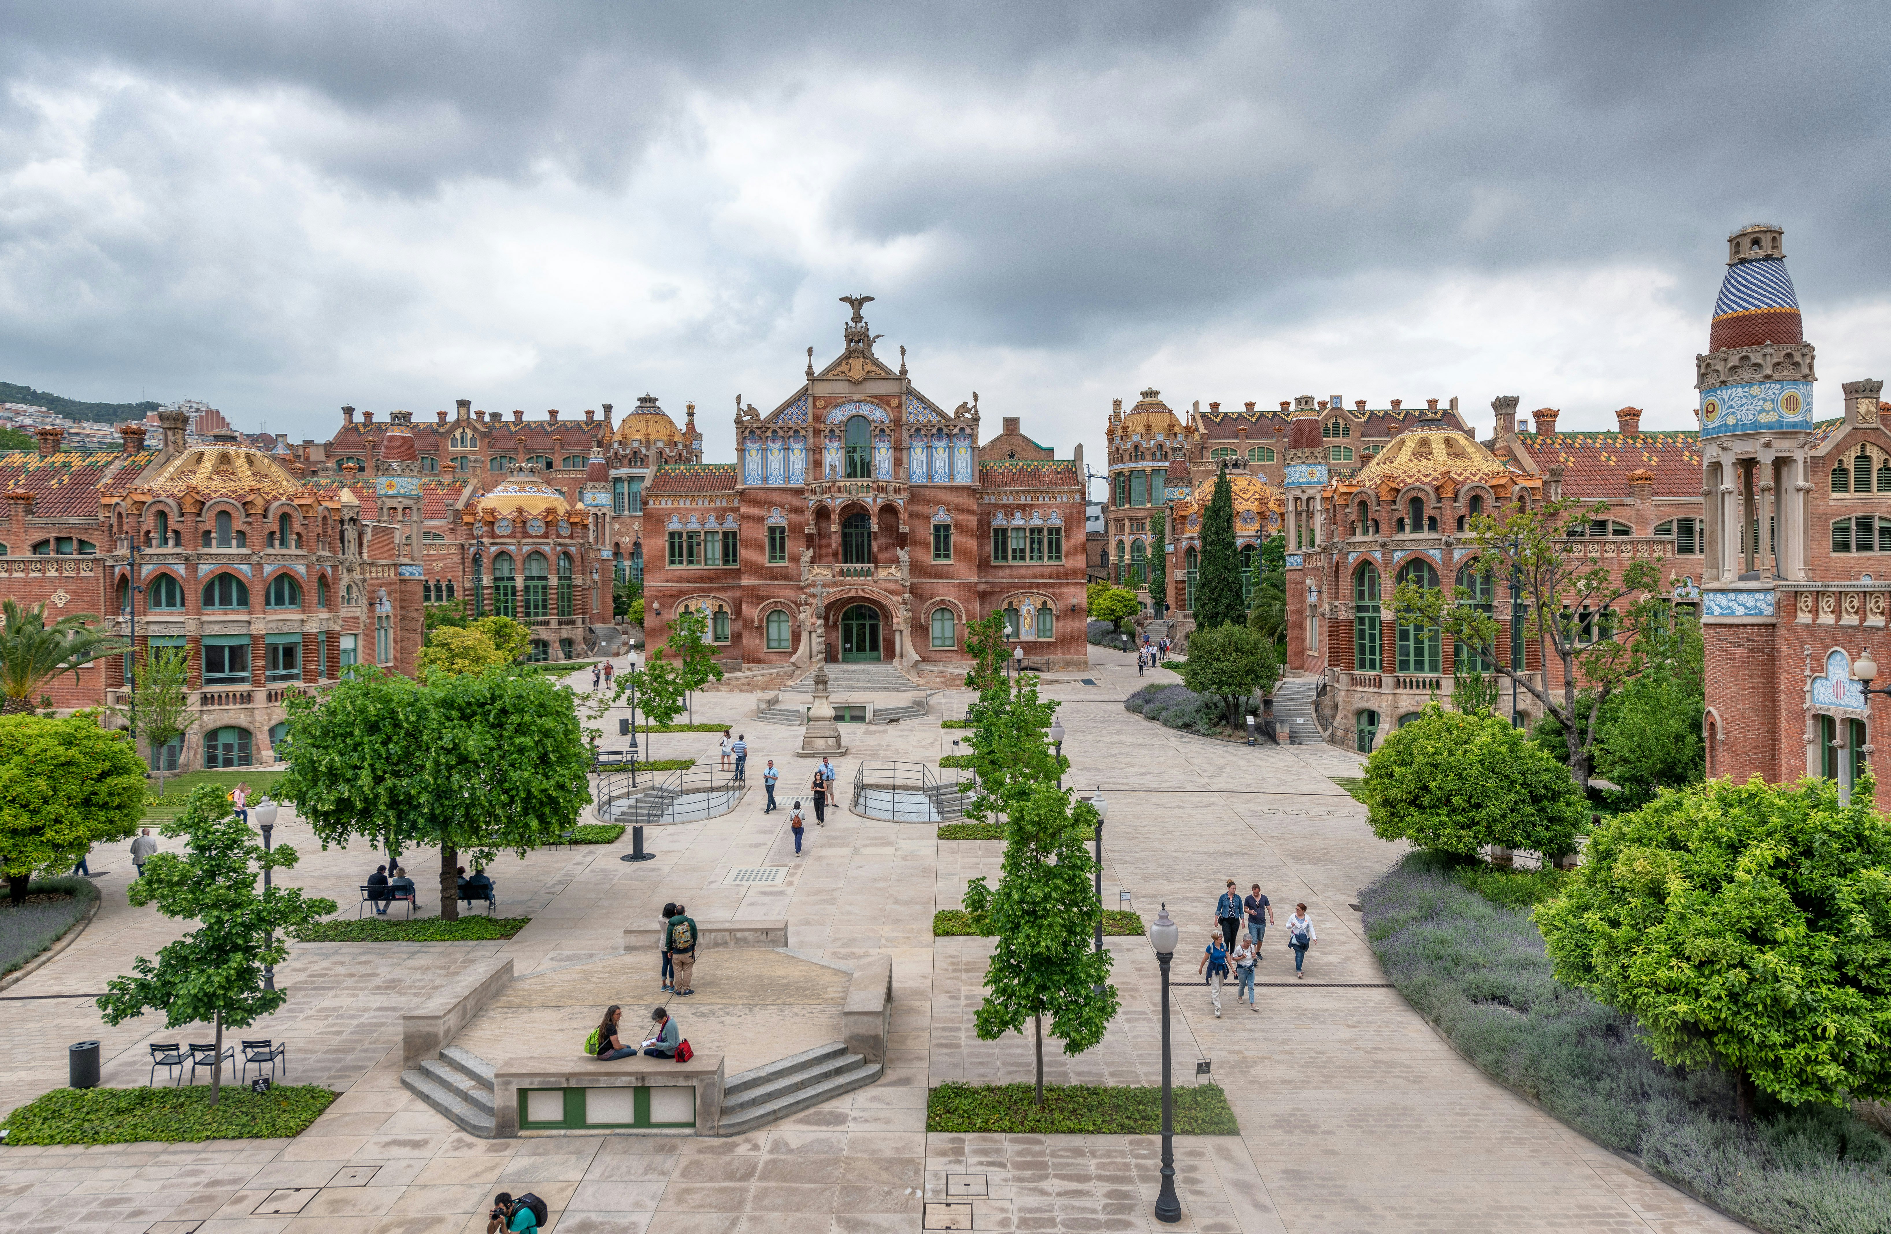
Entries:
{"label": "low green groundcover bed beside the black metal chairs, bottom left", "polygon": [[53,1088],[6,1119],[15,1143],[168,1143],[197,1140],[278,1140],[299,1136],[338,1092],[320,1085],[274,1085],[269,1092],[223,1083],[216,1105],[210,1085],[185,1088]]}

